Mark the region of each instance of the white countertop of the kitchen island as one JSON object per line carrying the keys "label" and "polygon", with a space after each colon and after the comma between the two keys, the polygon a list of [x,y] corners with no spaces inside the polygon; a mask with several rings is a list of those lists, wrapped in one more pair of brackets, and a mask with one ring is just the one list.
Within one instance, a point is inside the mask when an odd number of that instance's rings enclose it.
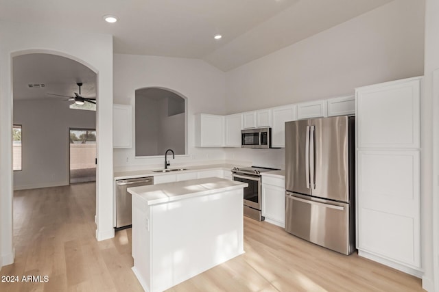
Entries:
{"label": "white countertop of the kitchen island", "polygon": [[132,195],[140,196],[147,202],[147,205],[153,205],[195,196],[215,194],[219,191],[230,191],[247,186],[247,183],[241,183],[239,181],[210,177],[178,181],[176,183],[129,187],[127,190]]}

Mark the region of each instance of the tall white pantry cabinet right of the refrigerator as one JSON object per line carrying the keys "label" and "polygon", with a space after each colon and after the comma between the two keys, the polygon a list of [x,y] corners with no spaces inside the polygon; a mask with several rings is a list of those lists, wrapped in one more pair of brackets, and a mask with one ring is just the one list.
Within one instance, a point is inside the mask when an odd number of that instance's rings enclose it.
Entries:
{"label": "tall white pantry cabinet right of the refrigerator", "polygon": [[421,80],[355,90],[358,253],[418,277]]}

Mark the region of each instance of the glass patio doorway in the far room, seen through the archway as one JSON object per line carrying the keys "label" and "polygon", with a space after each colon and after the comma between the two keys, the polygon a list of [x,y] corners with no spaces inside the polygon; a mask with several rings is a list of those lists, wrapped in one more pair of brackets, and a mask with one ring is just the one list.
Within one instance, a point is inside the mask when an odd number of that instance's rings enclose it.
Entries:
{"label": "glass patio doorway in the far room, seen through the archway", "polygon": [[96,181],[96,129],[69,129],[70,183]]}

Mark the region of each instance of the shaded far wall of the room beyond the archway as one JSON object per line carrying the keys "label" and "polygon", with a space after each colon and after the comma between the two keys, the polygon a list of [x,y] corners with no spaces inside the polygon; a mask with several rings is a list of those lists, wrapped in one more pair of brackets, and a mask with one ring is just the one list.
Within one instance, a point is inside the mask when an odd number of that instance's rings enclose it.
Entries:
{"label": "shaded far wall of the room beyond the archway", "polygon": [[69,185],[69,127],[95,129],[95,111],[69,109],[62,100],[14,101],[14,124],[22,126],[22,170],[14,189]]}

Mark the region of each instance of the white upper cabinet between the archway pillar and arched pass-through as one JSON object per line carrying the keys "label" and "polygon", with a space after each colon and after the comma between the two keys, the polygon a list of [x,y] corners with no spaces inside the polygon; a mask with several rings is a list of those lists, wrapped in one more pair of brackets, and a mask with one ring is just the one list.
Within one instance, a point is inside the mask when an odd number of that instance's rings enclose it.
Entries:
{"label": "white upper cabinet between the archway pillar and arched pass-through", "polygon": [[132,147],[131,105],[112,105],[112,146],[113,148]]}

